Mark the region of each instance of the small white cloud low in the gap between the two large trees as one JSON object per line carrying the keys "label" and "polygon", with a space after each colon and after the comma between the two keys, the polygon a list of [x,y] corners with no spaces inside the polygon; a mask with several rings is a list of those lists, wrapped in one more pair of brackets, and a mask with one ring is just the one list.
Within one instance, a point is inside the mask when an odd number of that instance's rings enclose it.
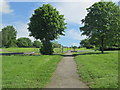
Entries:
{"label": "small white cloud low in the gap between the two large trees", "polygon": [[76,30],[68,30],[65,34],[67,38],[74,39],[74,40],[82,40],[87,38],[85,35],[81,35],[81,32],[78,32]]}

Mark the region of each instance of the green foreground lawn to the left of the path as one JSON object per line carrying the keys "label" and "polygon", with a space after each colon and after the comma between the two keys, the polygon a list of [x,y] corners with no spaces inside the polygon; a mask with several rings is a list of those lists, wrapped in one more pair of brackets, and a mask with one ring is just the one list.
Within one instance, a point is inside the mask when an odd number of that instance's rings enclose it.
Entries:
{"label": "green foreground lawn to the left of the path", "polygon": [[3,88],[43,88],[61,60],[57,55],[2,56]]}

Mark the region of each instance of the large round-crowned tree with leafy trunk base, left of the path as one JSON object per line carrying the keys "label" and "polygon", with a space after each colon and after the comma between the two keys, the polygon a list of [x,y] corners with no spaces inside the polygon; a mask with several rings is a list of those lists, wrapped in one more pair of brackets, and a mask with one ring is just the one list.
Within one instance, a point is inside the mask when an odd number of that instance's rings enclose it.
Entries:
{"label": "large round-crowned tree with leafy trunk base, left of the path", "polygon": [[42,54],[53,53],[51,41],[57,39],[60,35],[64,35],[63,32],[66,29],[64,20],[64,15],[60,15],[50,4],[44,4],[34,10],[28,24],[28,30],[31,32],[30,36],[41,40],[42,48],[40,52]]}

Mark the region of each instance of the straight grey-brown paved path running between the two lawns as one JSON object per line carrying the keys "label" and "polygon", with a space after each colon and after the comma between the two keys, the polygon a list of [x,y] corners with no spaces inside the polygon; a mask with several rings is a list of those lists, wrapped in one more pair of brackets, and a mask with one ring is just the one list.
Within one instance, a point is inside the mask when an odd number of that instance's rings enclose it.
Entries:
{"label": "straight grey-brown paved path running between the two lawns", "polygon": [[58,64],[58,67],[51,78],[51,82],[45,88],[88,88],[85,83],[79,80],[76,71],[76,63],[70,52]]}

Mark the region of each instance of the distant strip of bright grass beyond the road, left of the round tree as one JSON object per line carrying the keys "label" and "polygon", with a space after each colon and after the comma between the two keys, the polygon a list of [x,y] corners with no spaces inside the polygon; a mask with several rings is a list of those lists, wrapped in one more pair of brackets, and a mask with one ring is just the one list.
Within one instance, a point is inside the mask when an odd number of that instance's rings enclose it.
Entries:
{"label": "distant strip of bright grass beyond the road, left of the round tree", "polygon": [[3,48],[8,52],[39,52],[39,48]]}

